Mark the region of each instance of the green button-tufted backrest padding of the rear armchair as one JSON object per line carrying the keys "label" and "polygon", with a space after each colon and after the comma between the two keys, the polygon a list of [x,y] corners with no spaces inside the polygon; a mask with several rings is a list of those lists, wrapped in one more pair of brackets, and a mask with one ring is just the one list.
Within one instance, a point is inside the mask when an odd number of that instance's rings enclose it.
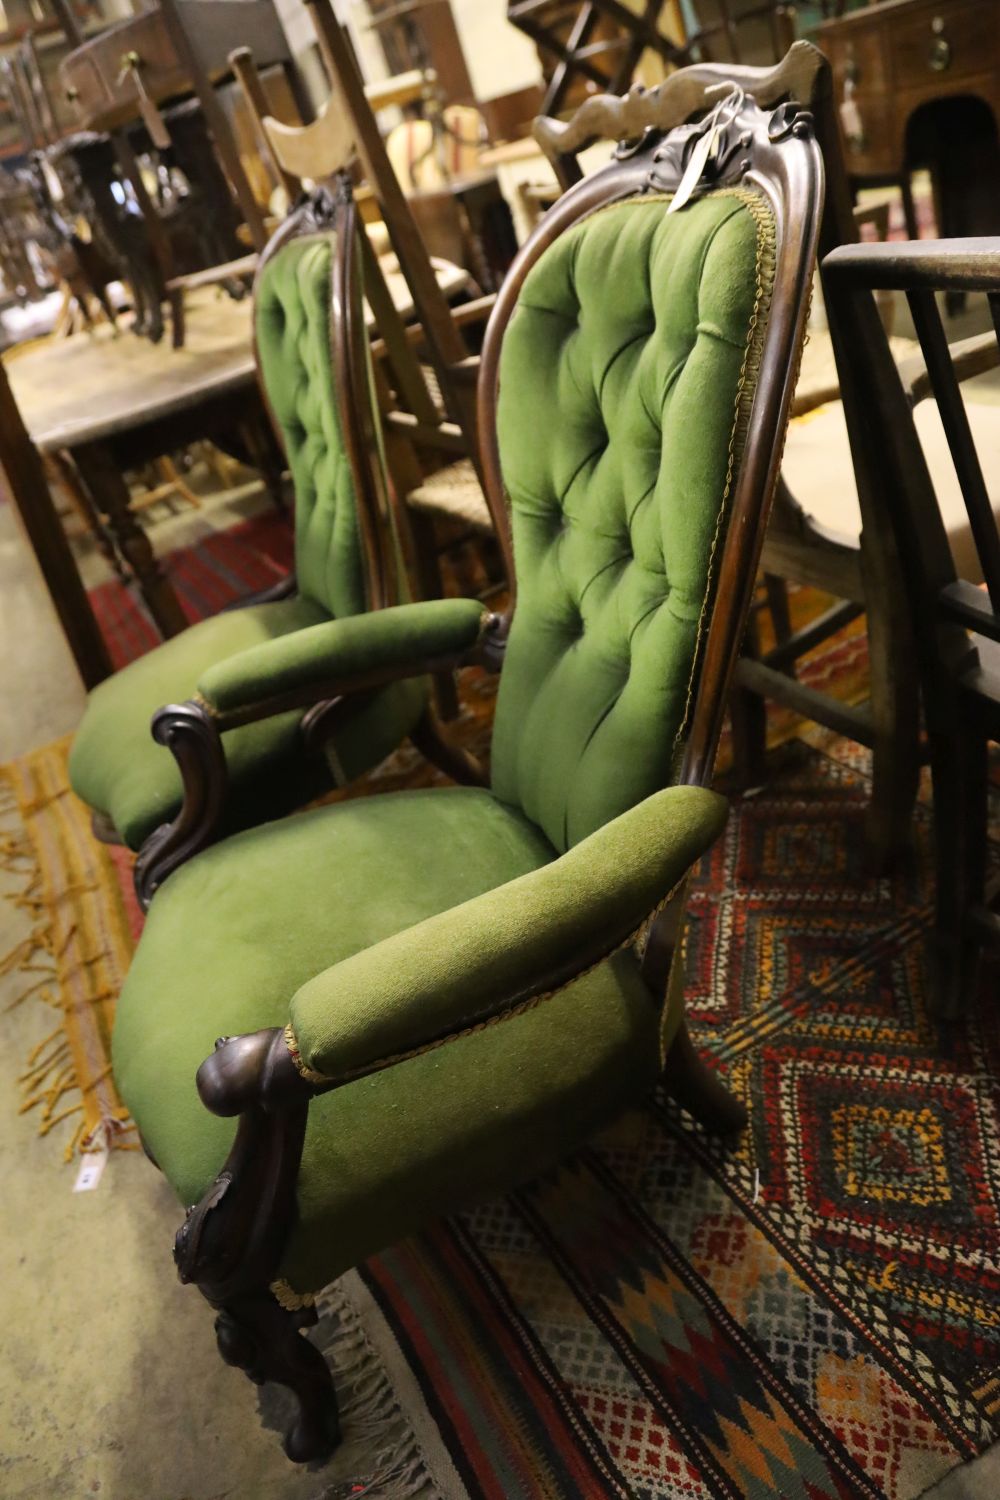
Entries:
{"label": "green button-tufted backrest padding of the rear armchair", "polygon": [[354,478],[330,354],[333,236],[292,240],[264,267],[253,318],[267,399],[295,488],[295,578],[328,615],[366,608]]}

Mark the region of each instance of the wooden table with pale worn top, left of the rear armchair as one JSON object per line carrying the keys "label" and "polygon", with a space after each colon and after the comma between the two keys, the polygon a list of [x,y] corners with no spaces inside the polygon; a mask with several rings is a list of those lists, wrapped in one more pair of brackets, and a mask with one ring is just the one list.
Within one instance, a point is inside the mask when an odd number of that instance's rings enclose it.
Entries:
{"label": "wooden table with pale worn top, left of the rear armchair", "polygon": [[[445,261],[433,266],[445,296],[471,288],[468,272]],[[396,308],[405,320],[412,318],[412,297],[394,256],[387,256],[384,267]],[[252,297],[234,302],[204,288],[187,297],[187,336],[180,350],[150,344],[127,332],[115,338],[114,330],[102,324],[93,333],[46,340],[18,352],[4,366],[6,384],[30,438],[27,447],[33,444],[37,453],[70,454],[163,636],[177,634],[187,620],[130,506],[124,474],[198,440],[225,442],[228,435],[238,432],[264,477],[271,483],[280,480],[273,468],[268,470],[270,420],[258,387],[250,320]],[[373,328],[370,310],[367,322]],[[12,428],[13,422],[10,416],[6,426]],[[0,462],[12,470],[16,465],[7,448],[12,450],[13,442],[7,441],[7,434],[0,434]],[[24,456],[22,468],[30,471],[30,478],[18,484],[10,476],[12,489],[46,579],[52,574],[49,590],[70,648],[81,662],[84,681],[93,686],[99,680],[93,668],[99,652],[85,594],[78,579],[72,590],[66,584],[72,556],[61,534],[57,536],[51,500],[46,490],[42,495],[43,480],[39,482],[30,456]],[[81,660],[78,646],[84,640],[87,650]]]}

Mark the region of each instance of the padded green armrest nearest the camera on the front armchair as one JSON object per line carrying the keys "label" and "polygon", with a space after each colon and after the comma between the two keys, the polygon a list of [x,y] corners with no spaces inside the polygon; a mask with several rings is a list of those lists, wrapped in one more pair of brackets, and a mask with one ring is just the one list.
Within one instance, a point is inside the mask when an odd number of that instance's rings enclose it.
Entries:
{"label": "padded green armrest nearest the camera on the front armchair", "polygon": [[291,1002],[300,1071],[343,1083],[579,978],[664,903],[726,813],[717,792],[667,788],[550,864],[316,975]]}

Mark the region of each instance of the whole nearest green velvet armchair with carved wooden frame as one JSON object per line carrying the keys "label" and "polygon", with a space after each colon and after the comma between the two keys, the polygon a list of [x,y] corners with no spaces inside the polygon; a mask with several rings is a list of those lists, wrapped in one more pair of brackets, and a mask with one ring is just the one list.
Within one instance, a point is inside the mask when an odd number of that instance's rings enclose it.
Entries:
{"label": "whole nearest green velvet armchair with carved wooden frame", "polygon": [[744,1119],[691,1048],[675,954],[685,879],[726,822],[711,770],[822,162],[787,102],[795,69],[760,75],[777,110],[720,99],[720,76],[541,122],[564,162],[598,132],[631,144],[541,220],[487,333],[481,440],[511,610],[355,615],[201,676],[225,729],[264,696],[285,711],[469,656],[502,666],[489,786],[216,843],[157,896],[121,994],[118,1086],[193,1204],[180,1275],[217,1308],[223,1358],[295,1392],[295,1460],[339,1436],[330,1371],[300,1336],[310,1293],[556,1161],[664,1070],[706,1125]]}

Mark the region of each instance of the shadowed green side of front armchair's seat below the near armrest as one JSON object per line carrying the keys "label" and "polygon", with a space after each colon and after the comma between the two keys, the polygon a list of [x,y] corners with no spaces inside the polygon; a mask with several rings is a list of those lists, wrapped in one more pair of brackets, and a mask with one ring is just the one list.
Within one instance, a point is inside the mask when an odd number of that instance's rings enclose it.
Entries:
{"label": "shadowed green side of front armchair's seat below the near armrest", "polygon": [[630,950],[502,1026],[315,1100],[279,1276],[315,1292],[546,1172],[642,1100],[658,1046],[658,1011]]}

